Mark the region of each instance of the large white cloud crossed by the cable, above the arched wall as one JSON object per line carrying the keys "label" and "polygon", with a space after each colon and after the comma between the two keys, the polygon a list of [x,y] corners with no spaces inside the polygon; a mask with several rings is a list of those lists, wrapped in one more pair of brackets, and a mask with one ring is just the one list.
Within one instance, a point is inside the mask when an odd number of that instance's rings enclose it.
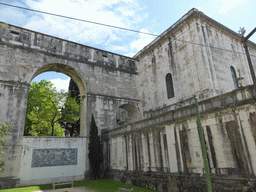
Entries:
{"label": "large white cloud crossed by the cable, above the arched wall", "polygon": [[[134,28],[147,16],[135,0],[25,0],[25,3],[32,9],[122,28]],[[30,18],[25,28],[90,45],[104,44],[107,41],[114,44],[119,40],[118,36],[123,38],[127,33],[101,25],[41,14]]]}

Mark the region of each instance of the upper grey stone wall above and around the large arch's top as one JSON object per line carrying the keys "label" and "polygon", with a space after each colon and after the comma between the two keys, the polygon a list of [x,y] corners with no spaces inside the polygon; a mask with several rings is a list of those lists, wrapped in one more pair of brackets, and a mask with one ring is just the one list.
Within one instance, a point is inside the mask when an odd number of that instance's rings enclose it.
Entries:
{"label": "upper grey stone wall above and around the large arch's top", "polygon": [[[1,26],[0,34],[3,81],[29,84],[42,72],[57,71],[73,78],[84,98],[94,95],[108,100],[125,100],[123,103],[138,101],[134,80],[136,62],[131,58],[11,25]],[[104,128],[115,126],[108,122],[99,124],[104,124]]]}

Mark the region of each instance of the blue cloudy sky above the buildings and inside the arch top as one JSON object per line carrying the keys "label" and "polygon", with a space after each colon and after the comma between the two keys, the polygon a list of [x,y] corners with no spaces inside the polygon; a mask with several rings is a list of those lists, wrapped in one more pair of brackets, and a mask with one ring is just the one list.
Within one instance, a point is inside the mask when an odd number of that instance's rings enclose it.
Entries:
{"label": "blue cloudy sky above the buildings and inside the arch top", "polygon": [[[0,0],[39,11],[161,34],[190,9],[197,8],[234,31],[255,27],[255,0]],[[133,56],[155,37],[0,5],[0,21],[110,52]],[[256,34],[250,38],[256,42]],[[56,87],[68,78],[59,73],[36,77]]]}

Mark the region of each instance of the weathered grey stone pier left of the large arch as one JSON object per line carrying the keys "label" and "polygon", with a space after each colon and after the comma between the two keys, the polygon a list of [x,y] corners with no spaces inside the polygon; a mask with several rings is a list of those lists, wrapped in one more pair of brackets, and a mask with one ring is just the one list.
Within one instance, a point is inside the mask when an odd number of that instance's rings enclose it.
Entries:
{"label": "weathered grey stone pier left of the large arch", "polygon": [[11,129],[4,144],[4,172],[0,173],[0,188],[15,187],[18,182],[23,132],[30,85],[0,81],[0,121]]}

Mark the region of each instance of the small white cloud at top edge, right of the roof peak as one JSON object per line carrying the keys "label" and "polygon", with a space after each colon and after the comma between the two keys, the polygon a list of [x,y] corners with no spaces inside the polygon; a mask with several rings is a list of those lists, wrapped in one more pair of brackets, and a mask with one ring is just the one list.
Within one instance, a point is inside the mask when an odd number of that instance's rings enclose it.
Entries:
{"label": "small white cloud at top edge, right of the roof peak", "polygon": [[227,14],[229,11],[243,6],[248,0],[215,0],[215,7],[218,9],[219,14]]}

